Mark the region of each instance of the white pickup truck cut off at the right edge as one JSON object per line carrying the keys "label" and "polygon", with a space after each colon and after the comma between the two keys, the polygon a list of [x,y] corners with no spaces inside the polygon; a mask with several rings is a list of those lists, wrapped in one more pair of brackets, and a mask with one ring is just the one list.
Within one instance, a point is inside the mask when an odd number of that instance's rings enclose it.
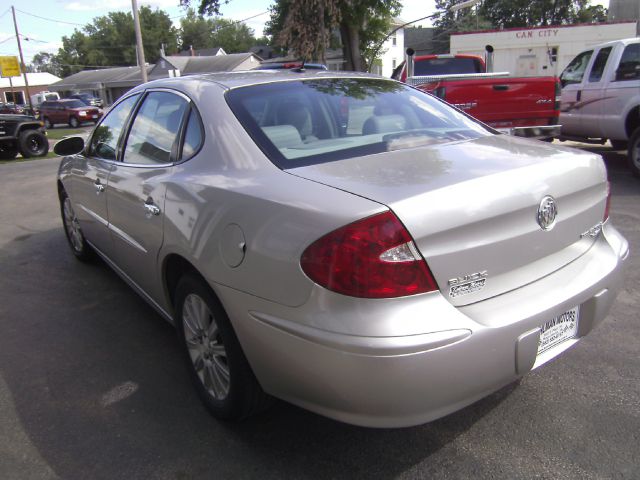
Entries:
{"label": "white pickup truck cut off at the right edge", "polygon": [[560,75],[562,138],[628,149],[640,177],[640,38],[578,54]]}

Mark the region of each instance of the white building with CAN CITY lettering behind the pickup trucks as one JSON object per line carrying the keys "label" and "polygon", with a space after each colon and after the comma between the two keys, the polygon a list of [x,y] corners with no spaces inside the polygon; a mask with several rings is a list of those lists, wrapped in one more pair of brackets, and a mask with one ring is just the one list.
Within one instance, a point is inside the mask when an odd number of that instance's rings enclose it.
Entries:
{"label": "white building with CAN CITY lettering behind the pickup trucks", "polygon": [[578,53],[598,43],[635,37],[636,22],[508,28],[452,34],[451,53],[484,55],[494,48],[494,71],[515,76],[559,75]]}

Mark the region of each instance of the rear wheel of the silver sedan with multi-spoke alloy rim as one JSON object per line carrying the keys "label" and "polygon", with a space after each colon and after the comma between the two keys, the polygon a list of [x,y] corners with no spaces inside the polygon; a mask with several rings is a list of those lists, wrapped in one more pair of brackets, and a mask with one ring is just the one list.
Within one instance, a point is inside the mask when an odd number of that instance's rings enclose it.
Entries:
{"label": "rear wheel of the silver sedan with multi-spoke alloy rim", "polygon": [[208,285],[195,275],[180,279],[175,324],[196,391],[211,414],[239,420],[270,403],[244,356],[229,317]]}

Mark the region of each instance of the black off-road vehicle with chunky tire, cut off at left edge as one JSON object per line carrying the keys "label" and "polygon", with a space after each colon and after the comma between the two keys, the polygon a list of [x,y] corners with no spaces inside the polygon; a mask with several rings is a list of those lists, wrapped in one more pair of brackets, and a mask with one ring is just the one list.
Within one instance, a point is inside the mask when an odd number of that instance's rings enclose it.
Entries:
{"label": "black off-road vehicle with chunky tire, cut off at left edge", "polygon": [[0,114],[0,160],[43,157],[49,152],[49,140],[42,122],[30,115]]}

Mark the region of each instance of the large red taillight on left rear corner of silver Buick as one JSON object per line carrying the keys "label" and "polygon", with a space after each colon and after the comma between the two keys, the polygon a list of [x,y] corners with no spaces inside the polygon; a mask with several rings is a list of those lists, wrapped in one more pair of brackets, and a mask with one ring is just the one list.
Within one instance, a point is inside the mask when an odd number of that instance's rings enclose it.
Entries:
{"label": "large red taillight on left rear corner of silver Buick", "polygon": [[389,211],[319,238],[304,251],[300,265],[314,282],[352,297],[392,298],[438,289],[409,232]]}

